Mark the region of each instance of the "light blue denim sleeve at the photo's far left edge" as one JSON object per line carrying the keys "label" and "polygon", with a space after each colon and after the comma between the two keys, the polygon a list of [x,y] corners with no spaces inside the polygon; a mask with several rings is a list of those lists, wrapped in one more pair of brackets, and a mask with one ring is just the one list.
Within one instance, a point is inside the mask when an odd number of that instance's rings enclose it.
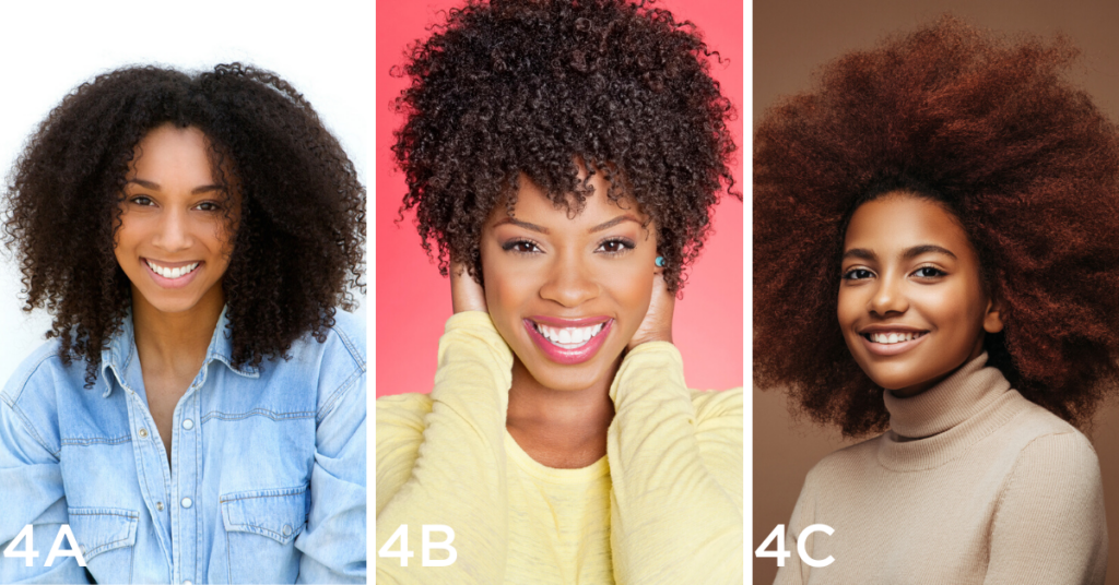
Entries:
{"label": "light blue denim sleeve at the photo's far left edge", "polygon": [[[0,583],[88,583],[74,557],[56,557],[45,566],[68,516],[58,459],[44,443],[46,435],[32,428],[11,397],[0,394]],[[30,567],[22,557],[2,556],[26,525],[34,526],[39,554]],[[27,540],[16,550],[27,550]]]}

